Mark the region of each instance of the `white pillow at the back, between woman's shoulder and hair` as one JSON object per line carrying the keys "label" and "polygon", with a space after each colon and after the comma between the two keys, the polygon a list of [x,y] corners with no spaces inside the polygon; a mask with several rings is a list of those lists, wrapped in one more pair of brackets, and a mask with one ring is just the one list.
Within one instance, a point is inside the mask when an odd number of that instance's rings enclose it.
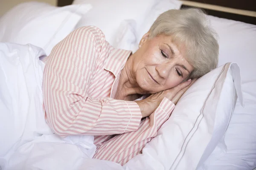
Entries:
{"label": "white pillow at the back, between woman's shoulder and hair", "polygon": [[[105,34],[106,40],[117,48],[116,35],[123,20],[134,20],[134,29],[140,28],[145,15],[151,11],[156,0],[74,0],[73,4],[90,3],[93,9],[82,17],[76,28],[96,26]],[[134,40],[135,41],[135,40]]]}

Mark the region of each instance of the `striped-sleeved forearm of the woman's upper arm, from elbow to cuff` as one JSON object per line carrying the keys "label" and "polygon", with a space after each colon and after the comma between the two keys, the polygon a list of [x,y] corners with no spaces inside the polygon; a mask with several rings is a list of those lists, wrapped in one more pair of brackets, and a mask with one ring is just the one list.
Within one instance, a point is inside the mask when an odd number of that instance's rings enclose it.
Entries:
{"label": "striped-sleeved forearm of the woman's upper arm, from elbow to cuff", "polygon": [[[65,96],[61,97],[65,99]],[[61,103],[67,103],[62,100]],[[50,127],[59,136],[68,135],[112,135],[137,130],[141,120],[140,108],[135,102],[88,97],[68,105],[55,101],[47,111]],[[63,107],[62,112],[56,112]]]}

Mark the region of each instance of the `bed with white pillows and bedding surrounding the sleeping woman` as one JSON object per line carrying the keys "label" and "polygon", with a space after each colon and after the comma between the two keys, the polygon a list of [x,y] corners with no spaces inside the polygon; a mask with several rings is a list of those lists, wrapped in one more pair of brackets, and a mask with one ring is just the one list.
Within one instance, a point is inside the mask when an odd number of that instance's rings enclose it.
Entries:
{"label": "bed with white pillows and bedding surrounding the sleeping woman", "polygon": [[[141,154],[124,166],[91,159],[92,137],[62,139],[52,133],[41,108],[41,59],[54,45],[74,29],[94,25],[115,48],[136,51],[159,14],[190,7],[205,10],[218,34],[218,68],[189,88]],[[255,47],[255,1],[20,4],[0,18],[0,169],[252,170],[256,167]]]}

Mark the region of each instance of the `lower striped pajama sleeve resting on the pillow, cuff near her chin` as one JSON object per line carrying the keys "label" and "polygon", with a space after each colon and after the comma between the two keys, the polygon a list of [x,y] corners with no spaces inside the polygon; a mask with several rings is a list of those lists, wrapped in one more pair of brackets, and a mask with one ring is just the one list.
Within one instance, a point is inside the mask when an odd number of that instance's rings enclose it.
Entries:
{"label": "lower striped pajama sleeve resting on the pillow, cuff near her chin", "polygon": [[157,131],[169,119],[174,108],[175,105],[164,98],[154,113],[140,123],[137,131],[120,134],[98,144],[93,158],[125,164],[157,136]]}

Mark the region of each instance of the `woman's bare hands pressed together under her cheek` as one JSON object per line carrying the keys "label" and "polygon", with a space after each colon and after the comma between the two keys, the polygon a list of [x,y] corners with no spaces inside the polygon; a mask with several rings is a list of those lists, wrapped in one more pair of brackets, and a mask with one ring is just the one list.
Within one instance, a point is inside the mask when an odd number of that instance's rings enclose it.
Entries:
{"label": "woman's bare hands pressed together under her cheek", "polygon": [[180,97],[195,82],[195,80],[196,79],[189,79],[188,81],[180,83],[173,88],[165,91],[160,91],[156,94],[151,94],[146,99],[135,101],[140,107],[142,117],[147,117],[151,115],[151,113],[153,113],[160,105],[164,97],[171,100],[176,105]]}

